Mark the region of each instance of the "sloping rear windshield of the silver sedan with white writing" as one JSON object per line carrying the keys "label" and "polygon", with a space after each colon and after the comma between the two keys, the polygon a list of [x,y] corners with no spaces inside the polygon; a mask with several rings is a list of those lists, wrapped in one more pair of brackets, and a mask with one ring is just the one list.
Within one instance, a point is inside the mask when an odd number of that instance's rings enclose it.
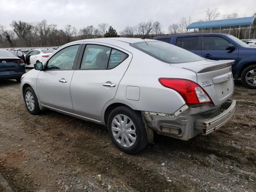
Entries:
{"label": "sloping rear windshield of the silver sedan with white writing", "polygon": [[186,63],[194,61],[202,61],[204,58],[184,50],[172,44],[149,41],[132,43],[130,46],[166,63]]}

